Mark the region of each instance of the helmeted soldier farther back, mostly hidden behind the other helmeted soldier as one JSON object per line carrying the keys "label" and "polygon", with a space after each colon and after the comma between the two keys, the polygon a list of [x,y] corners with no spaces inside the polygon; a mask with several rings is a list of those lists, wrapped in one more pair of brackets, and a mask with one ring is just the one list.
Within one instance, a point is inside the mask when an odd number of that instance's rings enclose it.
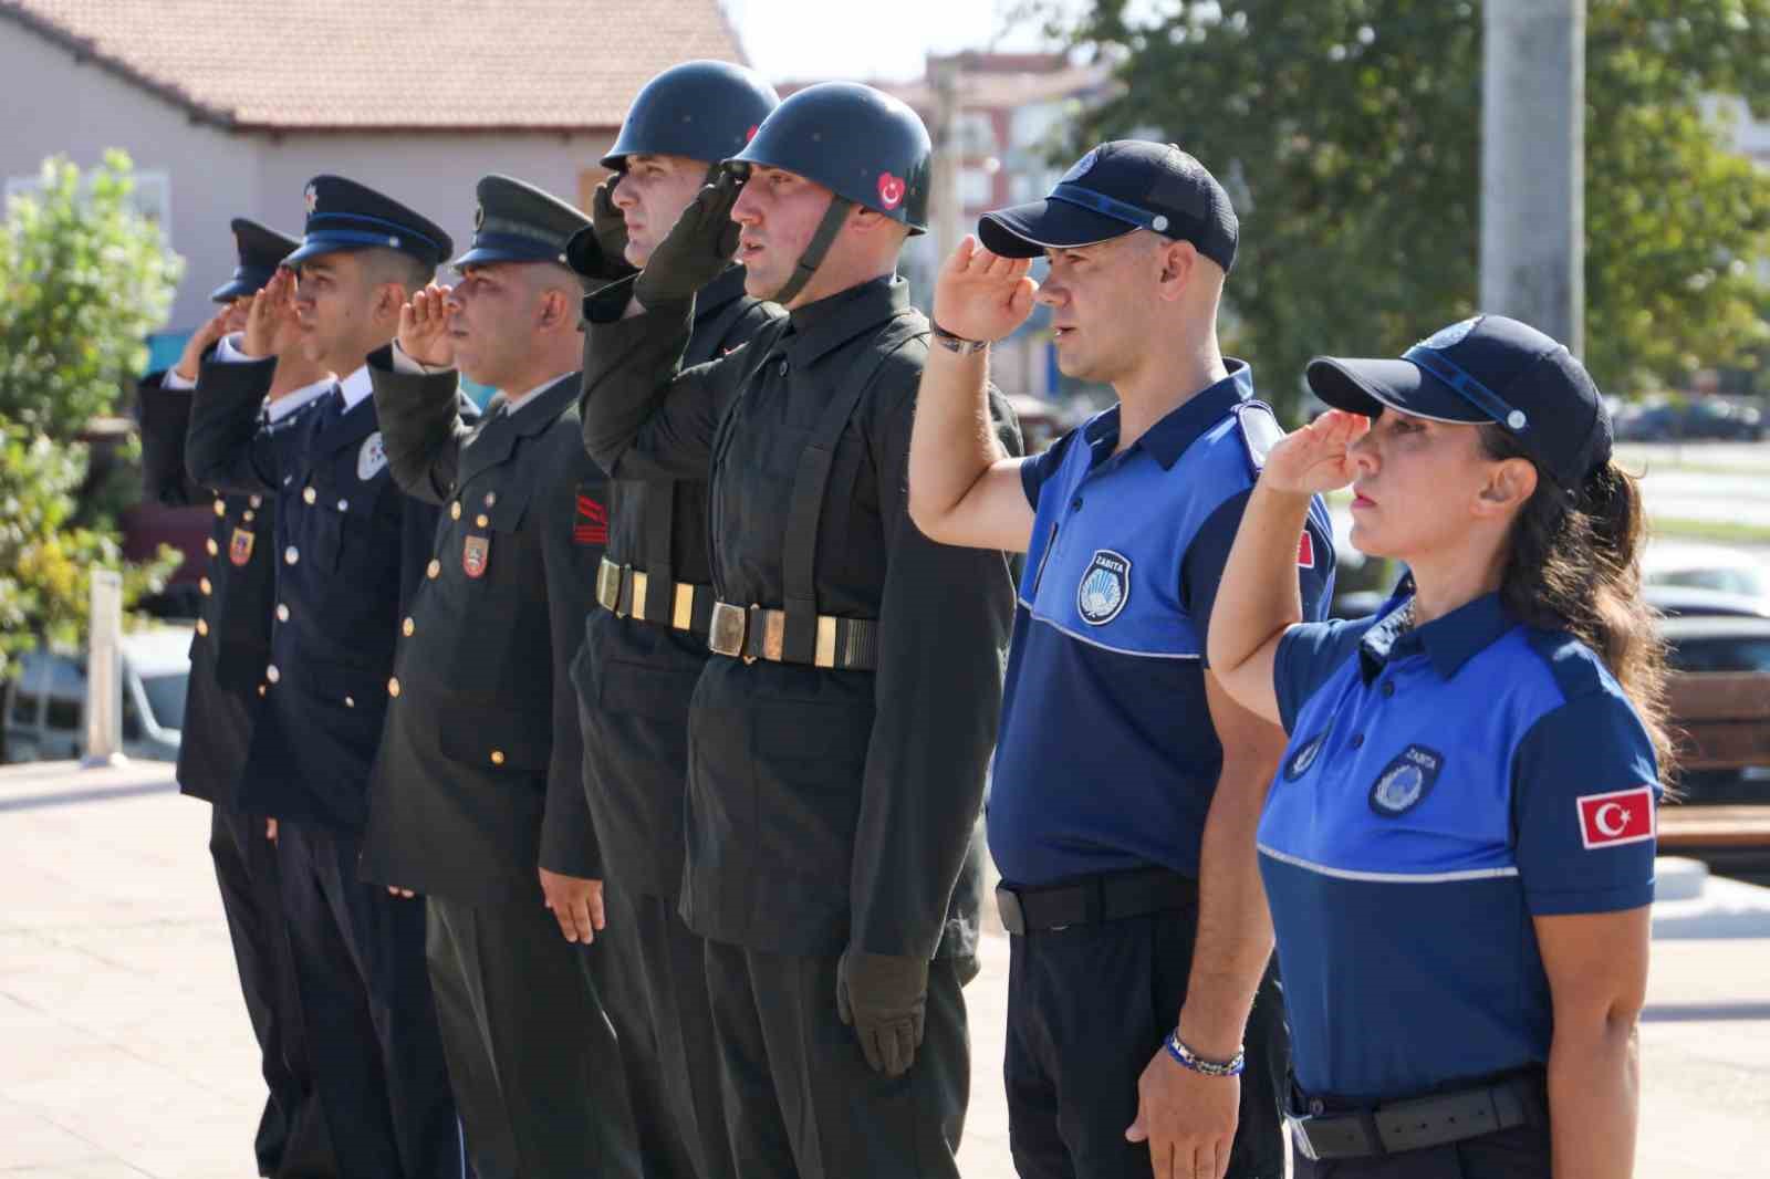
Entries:
{"label": "helmeted soldier farther back, mostly hidden behind the other helmeted soldier", "polygon": [[[648,81],[602,165],[596,230],[573,266],[614,280],[644,266],[708,170],[735,156],[779,99],[752,71],[685,62]],[[632,228],[628,230],[628,221]],[[604,243],[607,239],[607,243]],[[779,319],[727,267],[696,294],[683,365],[717,359]],[[584,726],[584,786],[609,876],[614,977],[609,1014],[632,1078],[648,1172],[731,1174],[701,938],[676,912],[689,775],[689,697],[708,659],[706,480],[646,474],[614,483],[609,551],[572,667]]]}

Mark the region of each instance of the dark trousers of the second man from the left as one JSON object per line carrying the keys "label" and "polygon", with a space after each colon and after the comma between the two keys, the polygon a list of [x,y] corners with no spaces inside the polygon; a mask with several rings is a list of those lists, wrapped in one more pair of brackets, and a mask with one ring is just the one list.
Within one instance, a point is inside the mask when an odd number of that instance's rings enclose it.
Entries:
{"label": "dark trousers of the second man from the left", "polygon": [[460,1179],[425,972],[425,901],[358,878],[361,837],[281,823],[283,913],[313,1083],[347,1179]]}

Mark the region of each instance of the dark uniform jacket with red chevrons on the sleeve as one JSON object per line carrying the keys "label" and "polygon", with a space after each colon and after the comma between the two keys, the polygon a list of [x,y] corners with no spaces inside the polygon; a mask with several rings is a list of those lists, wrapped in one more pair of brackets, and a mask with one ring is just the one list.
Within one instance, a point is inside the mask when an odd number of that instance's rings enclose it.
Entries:
{"label": "dark uniform jacket with red chevrons on the sleeve", "polygon": [[363,875],[469,905],[538,898],[536,864],[596,878],[568,667],[607,489],[579,377],[467,425],[453,372],[395,372],[381,349],[370,375],[395,482],[444,510],[400,623]]}

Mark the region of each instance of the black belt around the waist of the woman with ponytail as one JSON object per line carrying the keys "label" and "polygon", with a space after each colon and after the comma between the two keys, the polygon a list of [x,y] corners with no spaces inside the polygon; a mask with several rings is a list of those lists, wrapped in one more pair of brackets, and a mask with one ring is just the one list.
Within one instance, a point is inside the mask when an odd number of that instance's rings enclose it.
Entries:
{"label": "black belt around the waist of the woman with ponytail", "polygon": [[1490,1085],[1386,1101],[1374,1110],[1328,1114],[1292,1085],[1290,1140],[1310,1160],[1368,1158],[1423,1151],[1467,1138],[1549,1124],[1543,1075],[1531,1071]]}

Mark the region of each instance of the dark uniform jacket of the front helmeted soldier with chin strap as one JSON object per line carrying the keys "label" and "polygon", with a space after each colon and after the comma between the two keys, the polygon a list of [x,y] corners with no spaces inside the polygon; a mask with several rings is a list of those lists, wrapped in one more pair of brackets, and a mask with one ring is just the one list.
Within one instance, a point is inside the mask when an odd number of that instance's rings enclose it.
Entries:
{"label": "dark uniform jacket of the front helmeted soldier with chin strap", "polygon": [[[926,326],[908,285],[820,299],[689,370],[692,301],[595,322],[625,306],[625,283],[607,290],[588,301],[589,453],[614,478],[694,478],[712,460],[713,586],[779,607],[805,439],[901,317]],[[878,620],[878,669],[719,657],[696,685],[681,913],[701,936],[781,954],[975,952],[974,834],[1014,588],[1004,554],[938,545],[910,522],[926,354],[920,336],[876,370],[835,444],[818,529],[818,613]],[[993,409],[1018,453],[1000,395]]]}

